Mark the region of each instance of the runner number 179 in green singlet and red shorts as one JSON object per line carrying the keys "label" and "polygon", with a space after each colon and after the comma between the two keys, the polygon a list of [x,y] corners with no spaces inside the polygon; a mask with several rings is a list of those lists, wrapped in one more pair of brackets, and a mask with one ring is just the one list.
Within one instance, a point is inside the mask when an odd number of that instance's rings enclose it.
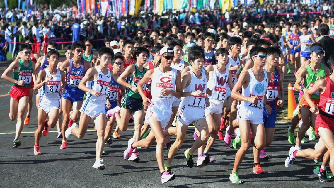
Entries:
{"label": "runner number 179 in green singlet and red shorts", "polygon": [[[24,113],[28,106],[30,84],[32,81],[36,83],[36,66],[29,60],[32,53],[31,45],[22,43],[19,45],[19,51],[21,58],[13,61],[1,75],[1,78],[13,82],[9,91],[9,119],[14,121],[17,118],[13,148],[21,146],[19,137],[23,129]],[[10,73],[13,74],[13,78],[8,76]]]}

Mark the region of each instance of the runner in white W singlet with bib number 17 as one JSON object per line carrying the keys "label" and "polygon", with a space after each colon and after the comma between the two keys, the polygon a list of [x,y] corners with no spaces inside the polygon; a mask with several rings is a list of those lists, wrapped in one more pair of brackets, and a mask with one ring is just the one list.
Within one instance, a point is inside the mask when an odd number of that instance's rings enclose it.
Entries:
{"label": "runner in white W singlet with bib number 17", "polygon": [[[174,155],[182,146],[189,124],[193,123],[200,132],[200,135],[198,135],[192,147],[184,152],[187,160],[186,164],[189,168],[194,166],[192,159],[193,153],[208,139],[208,126],[205,120],[204,106],[210,105],[205,93],[209,76],[202,72],[204,59],[205,55],[202,48],[199,46],[191,47],[191,50],[188,52],[188,60],[192,68],[191,71],[186,72],[182,76],[181,85],[183,98],[180,103],[179,116],[177,118],[176,140],[169,149],[168,159],[165,164],[167,168],[171,167]],[[209,163],[208,156],[198,156],[197,166],[203,166],[207,163]],[[171,172],[169,172],[169,174],[171,174]]]}

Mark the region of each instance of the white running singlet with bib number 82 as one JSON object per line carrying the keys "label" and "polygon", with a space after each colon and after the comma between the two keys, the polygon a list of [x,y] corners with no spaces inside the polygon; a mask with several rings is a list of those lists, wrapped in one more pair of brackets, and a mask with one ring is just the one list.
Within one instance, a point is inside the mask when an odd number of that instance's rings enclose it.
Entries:
{"label": "white running singlet with bib number 82", "polygon": [[42,97],[48,100],[60,100],[61,75],[57,69],[56,75],[51,75],[49,69],[45,70],[45,79],[52,76],[52,79],[43,85]]}

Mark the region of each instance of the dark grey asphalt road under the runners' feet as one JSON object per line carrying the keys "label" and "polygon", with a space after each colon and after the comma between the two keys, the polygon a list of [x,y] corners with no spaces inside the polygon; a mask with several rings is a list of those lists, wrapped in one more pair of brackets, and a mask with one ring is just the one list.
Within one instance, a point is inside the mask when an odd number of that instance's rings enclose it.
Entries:
{"label": "dark grey asphalt road under the runners' feet", "polygon": [[[2,74],[3,71],[0,71]],[[292,78],[290,78],[292,79]],[[287,123],[277,124],[273,143],[265,151],[269,160],[261,161],[265,174],[253,173],[252,149],[246,154],[239,169],[239,177],[244,184],[232,184],[229,173],[233,168],[236,150],[226,148],[217,140],[210,151],[216,161],[202,167],[189,169],[185,165],[183,152],[194,142],[194,128],[189,128],[183,146],[173,160],[172,172],[176,179],[161,184],[160,173],[155,158],[155,145],[149,149],[138,149],[140,162],[132,163],[123,159],[127,141],[133,135],[133,126],[120,132],[120,139],[113,139],[106,146],[107,155],[103,156],[105,170],[92,168],[95,160],[96,133],[93,124],[82,139],[71,137],[68,148],[60,150],[61,139],[56,138],[56,128],[51,128],[47,136],[42,136],[40,147],[42,155],[33,155],[34,131],[37,127],[37,110],[31,114],[30,124],[24,126],[20,140],[22,146],[12,148],[16,121],[10,121],[9,96],[10,83],[0,79],[0,187],[334,187],[333,180],[321,183],[313,174],[316,164],[313,160],[296,159],[287,169],[284,161],[291,145],[287,141]],[[35,99],[34,99],[35,100]],[[175,136],[172,136],[172,141]],[[302,148],[313,148],[316,142],[303,144]],[[194,154],[196,163],[197,152]],[[165,159],[167,151],[165,151]]]}

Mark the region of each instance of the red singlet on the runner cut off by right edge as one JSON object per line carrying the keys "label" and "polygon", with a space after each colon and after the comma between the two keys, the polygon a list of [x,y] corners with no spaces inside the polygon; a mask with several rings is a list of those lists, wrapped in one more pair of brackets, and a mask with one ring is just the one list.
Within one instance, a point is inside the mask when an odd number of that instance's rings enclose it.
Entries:
{"label": "red singlet on the runner cut off by right edge", "polygon": [[334,85],[328,77],[326,79],[326,89],[323,94],[320,94],[318,108],[330,115],[334,115]]}

